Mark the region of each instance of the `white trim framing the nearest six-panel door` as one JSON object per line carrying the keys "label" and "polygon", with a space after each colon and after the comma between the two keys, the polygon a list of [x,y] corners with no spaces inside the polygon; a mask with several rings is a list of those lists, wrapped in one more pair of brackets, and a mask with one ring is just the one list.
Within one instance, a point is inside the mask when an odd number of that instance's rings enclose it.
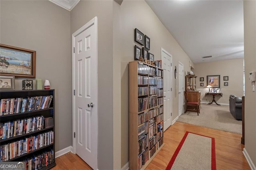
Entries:
{"label": "white trim framing the nearest six-panel door", "polygon": [[[75,117],[75,106],[74,106],[74,102],[75,102],[75,95],[74,95],[74,89],[75,89],[75,68],[74,68],[74,49],[73,47],[75,46],[75,37],[78,36],[80,33],[82,33],[84,30],[86,30],[87,28],[89,28],[90,26],[94,25],[94,29],[95,29],[95,47],[96,47],[96,51],[95,51],[95,57],[96,57],[96,103],[98,103],[98,18],[94,17],[92,20],[90,20],[88,23],[86,23],[84,26],[82,26],[81,28],[79,28],[76,32],[74,32],[72,34],[72,142],[73,142],[73,148],[72,148],[72,152],[74,154],[76,154],[76,138],[74,138],[74,132],[76,129],[76,117]],[[96,105],[97,107],[94,107],[95,109],[95,114],[96,114],[96,169],[98,169],[98,105]]]}

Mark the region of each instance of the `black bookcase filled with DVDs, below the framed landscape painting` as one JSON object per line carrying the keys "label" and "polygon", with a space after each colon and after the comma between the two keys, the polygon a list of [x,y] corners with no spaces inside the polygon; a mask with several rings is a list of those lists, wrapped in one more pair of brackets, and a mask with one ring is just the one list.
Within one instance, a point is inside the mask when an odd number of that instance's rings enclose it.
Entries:
{"label": "black bookcase filled with DVDs, below the framed landscape painting", "polygon": [[55,166],[54,89],[1,90],[0,101],[0,161]]}

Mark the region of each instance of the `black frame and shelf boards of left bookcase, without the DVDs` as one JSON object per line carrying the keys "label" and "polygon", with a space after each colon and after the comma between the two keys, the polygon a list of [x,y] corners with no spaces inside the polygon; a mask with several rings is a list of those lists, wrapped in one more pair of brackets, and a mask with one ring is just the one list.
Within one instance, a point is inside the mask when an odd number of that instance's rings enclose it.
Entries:
{"label": "black frame and shelf boards of left bookcase, without the DVDs", "polygon": [[[0,116],[0,122],[1,123],[6,123],[8,121],[15,121],[17,119],[26,119],[28,117],[36,117],[36,116],[44,116],[44,118],[52,117],[53,118],[53,126],[47,127],[47,128],[42,128],[40,130],[35,130],[33,132],[28,132],[25,134],[21,134],[18,136],[10,137],[10,138],[5,138],[0,140],[0,146],[3,146],[5,144],[8,144],[10,142],[13,142],[14,140],[20,140],[26,137],[29,137],[31,135],[36,135],[40,134],[42,132],[47,132],[48,130],[53,131],[53,143],[49,144],[47,146],[43,146],[41,148],[38,148],[36,150],[32,150],[28,153],[22,154],[20,156],[16,156],[15,158],[9,159],[7,161],[18,161],[18,160],[23,160],[26,159],[27,157],[31,157],[34,154],[43,154],[45,150],[50,149],[53,150],[53,159],[54,161],[41,168],[42,170],[48,170],[56,165],[55,163],[55,108],[54,108],[54,89],[49,89],[49,90],[0,90],[0,101],[2,99],[13,99],[13,98],[24,98],[27,99],[28,97],[37,97],[37,96],[53,96],[52,101],[49,104],[49,108],[46,109],[40,109],[40,110],[34,110],[34,111],[25,111],[24,113],[14,113],[14,114],[8,114],[8,115],[2,115]],[[3,103],[1,103],[2,105]],[[6,104],[6,103],[4,103]],[[0,106],[1,106],[0,105]],[[1,108],[1,107],[0,107]],[[3,129],[1,129],[3,131]],[[3,133],[3,132],[2,132]],[[2,151],[4,155],[4,151]],[[2,161],[2,160],[1,160]]]}

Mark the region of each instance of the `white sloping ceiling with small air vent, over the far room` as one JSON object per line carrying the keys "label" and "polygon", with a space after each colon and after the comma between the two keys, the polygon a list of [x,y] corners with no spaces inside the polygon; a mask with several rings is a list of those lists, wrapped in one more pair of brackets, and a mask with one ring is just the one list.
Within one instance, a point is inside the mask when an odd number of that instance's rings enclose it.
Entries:
{"label": "white sloping ceiling with small air vent, over the far room", "polygon": [[146,2],[194,63],[244,57],[242,0]]}

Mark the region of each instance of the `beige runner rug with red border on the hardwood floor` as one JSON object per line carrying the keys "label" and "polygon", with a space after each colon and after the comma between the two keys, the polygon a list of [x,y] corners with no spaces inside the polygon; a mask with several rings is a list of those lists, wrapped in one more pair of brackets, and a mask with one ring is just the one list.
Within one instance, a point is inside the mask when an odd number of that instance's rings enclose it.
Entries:
{"label": "beige runner rug with red border on the hardwood floor", "polygon": [[216,170],[214,138],[186,132],[166,170]]}

